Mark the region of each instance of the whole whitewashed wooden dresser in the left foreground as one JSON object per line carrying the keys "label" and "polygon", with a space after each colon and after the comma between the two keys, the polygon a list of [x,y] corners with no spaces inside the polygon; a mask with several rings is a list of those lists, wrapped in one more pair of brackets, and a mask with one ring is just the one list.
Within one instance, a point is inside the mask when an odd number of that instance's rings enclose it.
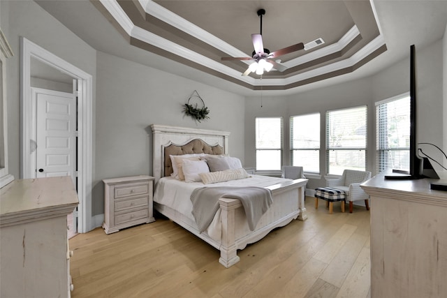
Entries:
{"label": "whole whitewashed wooden dresser in the left foreground", "polygon": [[70,297],[71,177],[19,179],[0,190],[0,297]]}

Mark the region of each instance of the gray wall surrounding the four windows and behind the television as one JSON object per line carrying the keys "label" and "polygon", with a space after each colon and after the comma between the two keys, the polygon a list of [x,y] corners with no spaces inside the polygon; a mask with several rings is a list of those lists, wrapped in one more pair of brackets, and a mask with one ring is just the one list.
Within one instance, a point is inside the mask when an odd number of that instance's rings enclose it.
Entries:
{"label": "gray wall surrounding the four windows and behind the television", "polygon": [[[445,43],[445,41],[444,41]],[[290,163],[289,158],[289,119],[299,114],[312,112],[321,113],[321,152],[320,170],[325,172],[325,112],[345,107],[368,105],[368,151],[367,170],[376,174],[376,135],[375,135],[375,103],[376,101],[404,94],[409,91],[409,47],[408,58],[390,66],[386,70],[364,79],[336,84],[293,96],[263,96],[261,108],[260,96],[250,97],[245,103],[245,162],[255,165],[255,117],[280,116],[284,118],[284,164]],[[446,50],[444,50],[445,52]],[[445,54],[444,54],[445,56]],[[417,94],[418,94],[418,142],[431,142],[443,146],[445,122],[443,119],[443,40],[426,47],[416,47]],[[374,61],[372,61],[374,63]],[[445,88],[445,87],[444,87]],[[445,107],[444,107],[445,109]],[[445,114],[445,113],[444,113]],[[444,125],[444,126],[443,126]],[[443,130],[444,127],[444,130]],[[444,151],[445,150],[444,146]],[[443,161],[439,151],[424,147],[424,151],[437,161]],[[439,170],[438,166],[435,166]],[[308,188],[325,184],[323,177],[310,179]]]}

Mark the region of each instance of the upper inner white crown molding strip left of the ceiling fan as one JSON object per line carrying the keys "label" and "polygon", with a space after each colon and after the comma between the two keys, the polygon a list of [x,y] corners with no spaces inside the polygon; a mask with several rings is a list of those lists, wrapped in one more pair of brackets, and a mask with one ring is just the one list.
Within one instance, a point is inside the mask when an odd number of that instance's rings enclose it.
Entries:
{"label": "upper inner white crown molding strip left of the ceiling fan", "polygon": [[184,33],[187,33],[195,38],[198,38],[199,40],[202,40],[204,43],[207,43],[208,45],[211,45],[212,47],[215,47],[216,49],[219,49],[222,52],[226,52],[230,56],[251,58],[251,56],[249,56],[247,53],[242,52],[241,50],[237,49],[236,47],[233,47],[229,43],[226,43],[220,38],[217,38],[216,36],[212,35],[210,32],[205,31],[202,28],[196,26],[196,24],[193,24],[185,20],[183,17],[176,15],[172,11],[167,10],[158,3],[155,3],[152,0],[138,0],[138,1],[140,2],[140,5],[142,6],[142,8],[145,10],[146,13],[152,15],[153,17],[156,17],[157,19],[165,22],[166,24],[170,24],[170,26],[182,30],[184,31]]}

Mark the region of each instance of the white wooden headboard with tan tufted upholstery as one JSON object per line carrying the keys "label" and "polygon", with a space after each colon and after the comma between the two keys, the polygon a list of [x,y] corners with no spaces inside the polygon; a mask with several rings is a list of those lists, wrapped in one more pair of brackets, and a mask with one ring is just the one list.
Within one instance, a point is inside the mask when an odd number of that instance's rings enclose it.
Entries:
{"label": "white wooden headboard with tan tufted upholstery", "polygon": [[152,167],[155,182],[173,172],[170,155],[205,153],[228,154],[226,131],[152,124],[154,147]]}

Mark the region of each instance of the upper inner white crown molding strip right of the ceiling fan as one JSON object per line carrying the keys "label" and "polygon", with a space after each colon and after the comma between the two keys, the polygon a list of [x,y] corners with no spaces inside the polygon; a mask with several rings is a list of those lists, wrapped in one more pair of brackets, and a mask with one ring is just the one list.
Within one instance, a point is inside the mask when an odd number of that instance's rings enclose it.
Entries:
{"label": "upper inner white crown molding strip right of the ceiling fan", "polygon": [[337,43],[332,43],[332,45],[326,45],[321,49],[314,50],[312,52],[309,52],[308,54],[302,55],[301,57],[291,59],[289,61],[284,62],[283,64],[288,68],[291,68],[294,66],[305,64],[314,59],[318,59],[333,54],[335,52],[339,52],[343,50],[344,47],[346,47],[346,45],[349,45],[349,43],[351,43],[351,41],[359,35],[360,31],[358,31],[357,26],[354,25],[351,29],[349,29],[348,32],[344,34],[344,36],[342,36],[342,38],[340,38],[339,41],[337,41]]}

